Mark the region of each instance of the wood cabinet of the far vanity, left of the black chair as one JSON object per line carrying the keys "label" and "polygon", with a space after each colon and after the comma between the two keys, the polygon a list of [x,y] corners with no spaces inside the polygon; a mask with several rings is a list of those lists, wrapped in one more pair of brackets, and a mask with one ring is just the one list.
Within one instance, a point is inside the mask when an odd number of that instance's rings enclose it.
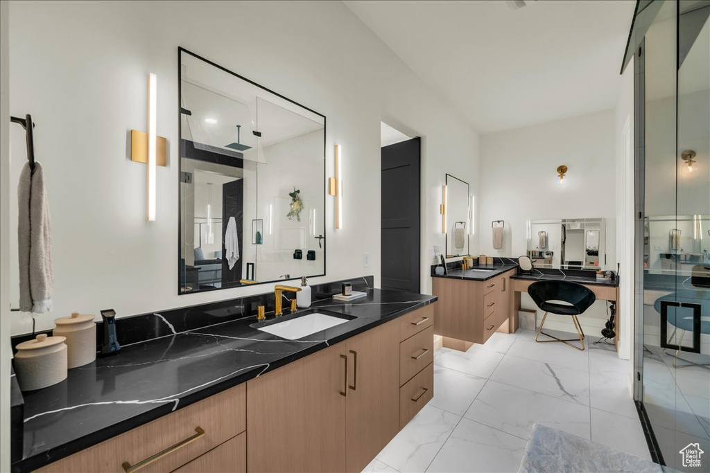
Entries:
{"label": "wood cabinet of the far vanity, left of the black chair", "polygon": [[445,337],[444,340],[482,344],[502,325],[501,331],[507,332],[513,274],[515,269],[487,281],[432,278],[432,292],[439,297],[434,304],[434,333]]}

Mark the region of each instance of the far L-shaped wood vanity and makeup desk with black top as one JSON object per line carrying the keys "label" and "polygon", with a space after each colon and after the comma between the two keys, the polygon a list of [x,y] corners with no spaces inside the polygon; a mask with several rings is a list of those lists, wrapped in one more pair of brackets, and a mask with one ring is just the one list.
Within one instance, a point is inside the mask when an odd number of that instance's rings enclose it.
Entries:
{"label": "far L-shaped wood vanity and makeup desk with black top", "polygon": [[[618,304],[616,274],[609,280],[596,279],[591,270],[533,269],[533,274],[520,274],[517,260],[498,257],[493,265],[461,269],[461,262],[452,262],[447,267],[447,274],[435,274],[432,267],[432,294],[439,299],[434,308],[434,333],[442,336],[444,347],[454,350],[483,344],[496,331],[515,333],[520,293],[536,281],[577,282],[594,291],[597,300]],[[615,332],[618,349],[618,326]]]}

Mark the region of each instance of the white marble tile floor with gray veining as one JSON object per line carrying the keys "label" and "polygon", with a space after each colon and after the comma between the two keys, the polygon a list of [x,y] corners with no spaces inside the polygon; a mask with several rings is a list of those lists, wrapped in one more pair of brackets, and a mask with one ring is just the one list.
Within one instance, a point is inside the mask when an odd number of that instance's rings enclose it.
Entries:
{"label": "white marble tile floor with gray veining", "polygon": [[535,423],[650,460],[629,362],[608,345],[579,352],[534,339],[518,330],[439,350],[434,399],[364,471],[517,472]]}

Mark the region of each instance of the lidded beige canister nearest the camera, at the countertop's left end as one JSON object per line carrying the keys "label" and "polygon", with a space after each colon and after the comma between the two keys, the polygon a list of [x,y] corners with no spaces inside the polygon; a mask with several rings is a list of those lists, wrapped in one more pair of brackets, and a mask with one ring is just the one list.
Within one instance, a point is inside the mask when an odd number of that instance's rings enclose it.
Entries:
{"label": "lidded beige canister nearest the camera, at the countertop's left end", "polygon": [[21,391],[52,386],[67,378],[67,345],[64,337],[40,333],[15,348],[15,371]]}

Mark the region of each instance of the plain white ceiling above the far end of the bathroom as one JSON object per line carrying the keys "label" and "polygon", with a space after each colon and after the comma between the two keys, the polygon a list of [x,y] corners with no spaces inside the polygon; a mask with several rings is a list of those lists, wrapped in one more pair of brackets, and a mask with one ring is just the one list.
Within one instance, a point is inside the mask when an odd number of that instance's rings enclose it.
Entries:
{"label": "plain white ceiling above the far end of the bathroom", "polygon": [[616,106],[635,0],[344,4],[479,133]]}

